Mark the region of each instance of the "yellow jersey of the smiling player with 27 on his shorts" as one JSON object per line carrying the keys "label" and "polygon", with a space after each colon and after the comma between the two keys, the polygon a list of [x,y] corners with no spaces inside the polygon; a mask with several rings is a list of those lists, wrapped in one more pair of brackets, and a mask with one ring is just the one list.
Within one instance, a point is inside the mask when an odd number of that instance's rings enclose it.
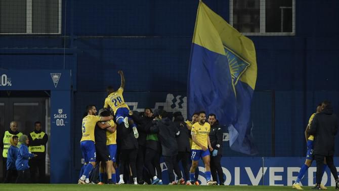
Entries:
{"label": "yellow jersey of the smiling player with 27 on his shorts", "polygon": [[[191,135],[195,135],[197,141],[205,146],[207,148],[207,137],[210,131],[210,125],[208,123],[205,123],[203,125],[200,125],[199,122],[193,124],[192,126],[192,130],[191,130]],[[201,150],[202,148],[200,146],[198,146],[197,144],[195,144],[195,142],[193,141],[192,143],[192,149],[197,149],[197,150]]]}

